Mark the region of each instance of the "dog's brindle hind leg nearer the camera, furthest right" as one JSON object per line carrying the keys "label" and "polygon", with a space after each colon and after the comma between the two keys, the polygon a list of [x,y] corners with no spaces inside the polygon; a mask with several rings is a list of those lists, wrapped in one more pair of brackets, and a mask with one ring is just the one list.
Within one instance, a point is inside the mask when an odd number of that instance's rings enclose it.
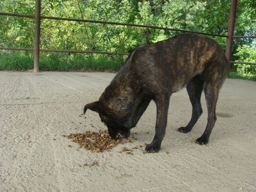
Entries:
{"label": "dog's brindle hind leg nearer the camera, furthest right", "polygon": [[202,145],[207,144],[209,141],[212,128],[217,120],[216,117],[216,104],[218,100],[218,94],[220,91],[220,86],[218,83],[214,84],[213,82],[207,83],[204,85],[204,94],[206,98],[206,105],[208,110],[207,125],[202,136],[196,139],[196,143]]}

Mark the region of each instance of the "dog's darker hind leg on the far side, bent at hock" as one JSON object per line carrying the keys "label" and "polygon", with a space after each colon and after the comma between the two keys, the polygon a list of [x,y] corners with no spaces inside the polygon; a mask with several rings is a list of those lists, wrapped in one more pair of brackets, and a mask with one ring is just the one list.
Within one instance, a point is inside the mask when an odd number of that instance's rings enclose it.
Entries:
{"label": "dog's darker hind leg on the far side, bent at hock", "polygon": [[186,127],[180,127],[177,130],[182,133],[190,132],[196,124],[198,118],[203,113],[201,106],[201,94],[204,87],[204,82],[200,75],[193,77],[187,84],[187,91],[190,102],[192,104],[192,117]]}

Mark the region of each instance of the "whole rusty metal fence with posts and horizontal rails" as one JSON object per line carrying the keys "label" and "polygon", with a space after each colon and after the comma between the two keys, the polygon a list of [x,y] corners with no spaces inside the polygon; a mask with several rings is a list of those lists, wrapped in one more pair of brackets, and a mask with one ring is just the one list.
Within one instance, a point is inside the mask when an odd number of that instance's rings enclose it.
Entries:
{"label": "whole rusty metal fence with posts and horizontal rails", "polygon": [[[109,25],[122,25],[122,26],[132,26],[146,29],[146,44],[148,44],[148,36],[150,29],[159,29],[159,30],[168,30],[168,31],[176,31],[183,33],[192,33],[192,34],[201,34],[207,36],[218,36],[227,38],[227,49],[226,56],[228,60],[231,59],[232,54],[232,42],[234,38],[256,38],[256,36],[233,36],[234,33],[234,19],[236,14],[236,3],[237,0],[232,0],[231,9],[230,9],[230,24],[228,27],[228,35],[219,35],[219,34],[211,34],[211,33],[203,33],[203,32],[194,32],[188,30],[178,30],[172,28],[164,28],[157,26],[147,26],[147,25],[137,25],[137,24],[127,24],[127,23],[117,23],[117,22],[105,22],[105,21],[94,21],[94,20],[84,20],[84,19],[75,19],[75,18],[59,18],[59,17],[49,17],[49,16],[41,16],[41,1],[36,0],[36,12],[35,15],[27,15],[27,14],[12,14],[12,13],[2,13],[0,15],[3,16],[15,16],[15,17],[24,17],[24,18],[34,18],[35,19],[35,39],[34,39],[34,48],[14,48],[14,47],[0,47],[0,50],[25,50],[25,51],[34,51],[34,72],[38,72],[39,70],[39,54],[42,52],[70,52],[70,53],[90,53],[90,54],[117,54],[117,55],[128,55],[129,53],[125,52],[103,52],[103,51],[88,51],[88,50],[60,50],[60,49],[40,49],[40,20],[41,19],[51,19],[51,20],[66,20],[66,21],[76,21],[76,22],[88,22],[95,24],[109,24]],[[238,63],[238,64],[250,64],[256,65],[256,63],[248,63],[248,62],[235,62],[230,61],[230,63]]]}

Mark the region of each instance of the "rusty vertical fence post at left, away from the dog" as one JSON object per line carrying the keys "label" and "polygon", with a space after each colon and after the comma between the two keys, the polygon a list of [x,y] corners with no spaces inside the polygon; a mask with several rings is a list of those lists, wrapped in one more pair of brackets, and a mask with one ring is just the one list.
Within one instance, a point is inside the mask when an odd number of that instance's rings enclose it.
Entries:
{"label": "rusty vertical fence post at left, away from the dog", "polygon": [[40,53],[40,17],[41,0],[36,0],[35,12],[35,39],[34,39],[34,72],[39,71],[39,53]]}

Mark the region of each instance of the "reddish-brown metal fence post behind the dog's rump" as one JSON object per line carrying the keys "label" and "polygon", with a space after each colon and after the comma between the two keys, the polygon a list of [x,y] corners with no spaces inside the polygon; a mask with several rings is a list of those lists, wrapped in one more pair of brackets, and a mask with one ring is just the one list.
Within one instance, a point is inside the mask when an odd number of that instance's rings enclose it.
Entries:
{"label": "reddish-brown metal fence post behind the dog's rump", "polygon": [[234,36],[234,27],[235,27],[235,20],[236,20],[236,5],[237,5],[237,0],[231,0],[229,25],[228,25],[228,39],[227,39],[227,48],[226,48],[226,57],[228,58],[228,61],[231,60],[231,54],[232,54],[232,44],[233,44],[232,36]]}

